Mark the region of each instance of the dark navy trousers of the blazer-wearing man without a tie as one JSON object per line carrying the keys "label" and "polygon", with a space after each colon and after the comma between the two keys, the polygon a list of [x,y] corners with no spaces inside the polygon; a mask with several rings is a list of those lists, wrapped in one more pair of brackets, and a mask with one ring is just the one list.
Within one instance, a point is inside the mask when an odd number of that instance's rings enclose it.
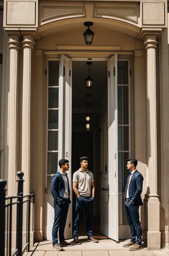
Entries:
{"label": "dark navy trousers of the blazer-wearing man without a tie", "polygon": [[53,245],[58,243],[58,228],[59,228],[59,241],[60,242],[65,241],[64,231],[65,231],[67,213],[69,209],[69,200],[63,199],[60,205],[54,202],[54,208],[55,208],[55,218],[54,218],[54,223],[52,228]]}

